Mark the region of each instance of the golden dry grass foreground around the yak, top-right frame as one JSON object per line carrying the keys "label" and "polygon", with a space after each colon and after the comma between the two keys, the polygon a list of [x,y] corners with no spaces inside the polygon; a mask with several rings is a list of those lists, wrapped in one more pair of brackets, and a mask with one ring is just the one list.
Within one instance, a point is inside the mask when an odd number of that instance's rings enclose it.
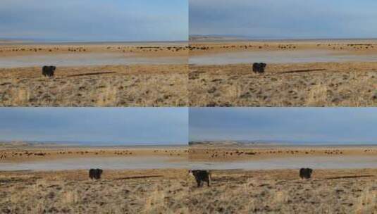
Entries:
{"label": "golden dry grass foreground around the yak, top-right frame", "polygon": [[376,106],[377,63],[190,65],[190,106]]}

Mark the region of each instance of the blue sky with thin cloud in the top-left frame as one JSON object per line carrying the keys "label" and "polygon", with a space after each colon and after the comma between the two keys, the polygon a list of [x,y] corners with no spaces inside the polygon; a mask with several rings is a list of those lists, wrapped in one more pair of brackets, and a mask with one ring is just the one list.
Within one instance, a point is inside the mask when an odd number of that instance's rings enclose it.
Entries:
{"label": "blue sky with thin cloud in the top-left frame", "polygon": [[0,38],[182,41],[187,0],[1,0]]}

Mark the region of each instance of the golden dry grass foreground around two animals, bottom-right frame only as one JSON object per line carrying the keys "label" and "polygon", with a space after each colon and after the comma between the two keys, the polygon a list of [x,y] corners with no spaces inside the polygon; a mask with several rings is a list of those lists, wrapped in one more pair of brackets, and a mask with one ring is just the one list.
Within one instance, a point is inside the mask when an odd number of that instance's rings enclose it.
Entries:
{"label": "golden dry grass foreground around two animals, bottom-right frame only", "polygon": [[190,186],[192,213],[377,213],[377,170],[213,171],[211,187]]}

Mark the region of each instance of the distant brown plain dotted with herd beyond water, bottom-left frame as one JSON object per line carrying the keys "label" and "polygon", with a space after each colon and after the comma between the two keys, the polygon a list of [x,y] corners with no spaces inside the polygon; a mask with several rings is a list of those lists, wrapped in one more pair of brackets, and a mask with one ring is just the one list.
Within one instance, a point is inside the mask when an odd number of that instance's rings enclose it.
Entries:
{"label": "distant brown plain dotted with herd beyond water, bottom-left frame", "polygon": [[[186,158],[187,146],[73,146],[57,144],[0,143],[0,161],[27,163],[71,158],[137,158],[160,156]],[[0,162],[1,163],[1,162]]]}

